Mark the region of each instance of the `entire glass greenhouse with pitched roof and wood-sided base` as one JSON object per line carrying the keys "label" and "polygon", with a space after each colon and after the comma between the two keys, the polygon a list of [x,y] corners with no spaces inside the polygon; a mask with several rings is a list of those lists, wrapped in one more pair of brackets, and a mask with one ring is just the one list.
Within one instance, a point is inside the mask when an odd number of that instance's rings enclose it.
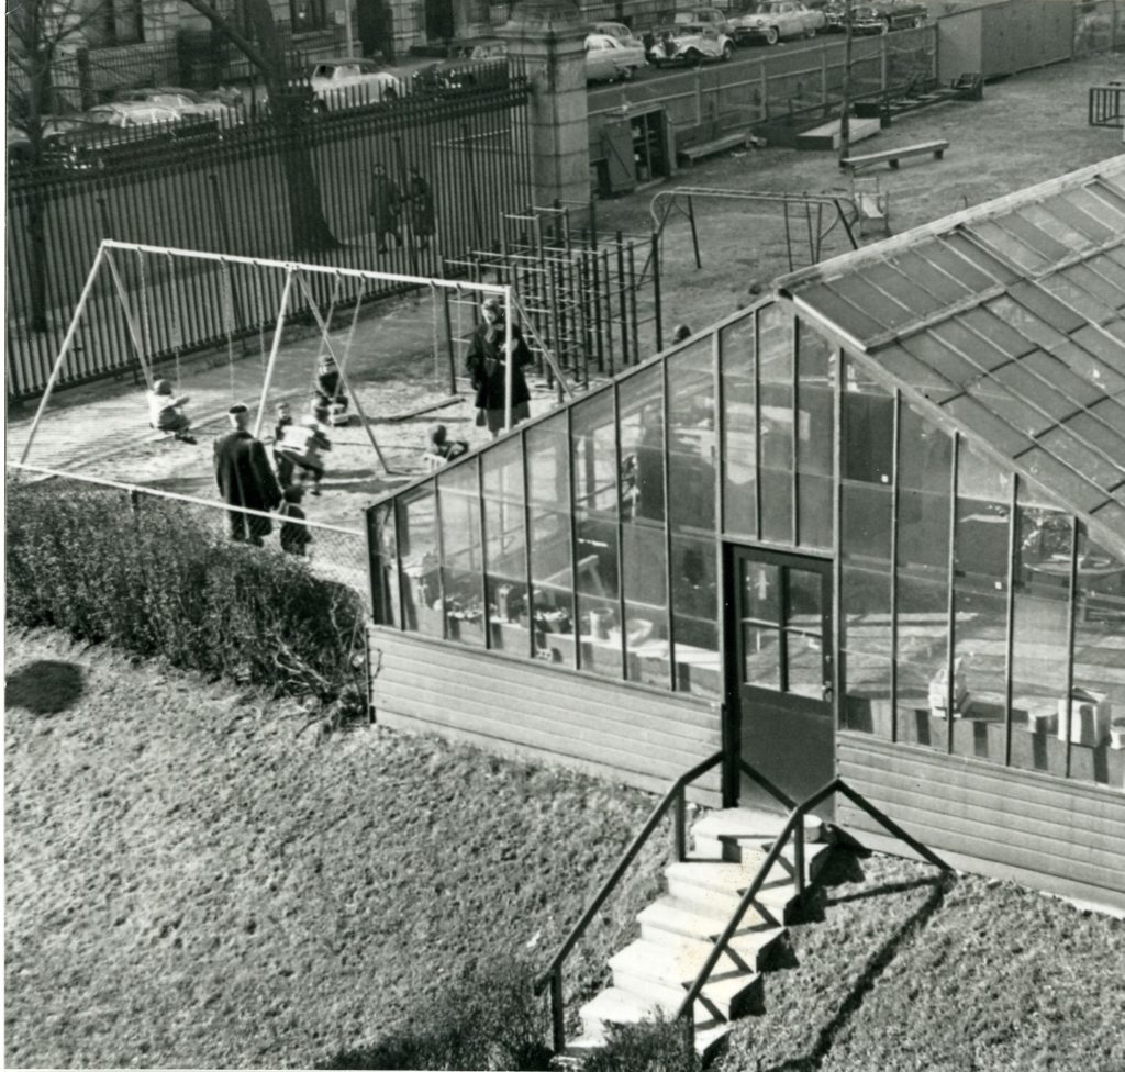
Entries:
{"label": "entire glass greenhouse with pitched roof and wood-sided base", "polygon": [[368,523],[380,721],[662,790],[721,749],[708,803],[838,774],[1125,909],[1125,156],[790,274]]}

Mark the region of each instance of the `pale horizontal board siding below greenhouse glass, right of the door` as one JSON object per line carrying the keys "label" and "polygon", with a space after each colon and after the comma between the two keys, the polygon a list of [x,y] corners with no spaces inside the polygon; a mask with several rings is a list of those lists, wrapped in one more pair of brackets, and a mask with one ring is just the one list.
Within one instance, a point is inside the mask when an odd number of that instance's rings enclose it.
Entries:
{"label": "pale horizontal board siding below greenhouse glass, right of the door", "polygon": [[[855,733],[838,736],[837,758],[849,785],[965,870],[1125,909],[1125,794]],[[880,829],[844,800],[837,821]]]}

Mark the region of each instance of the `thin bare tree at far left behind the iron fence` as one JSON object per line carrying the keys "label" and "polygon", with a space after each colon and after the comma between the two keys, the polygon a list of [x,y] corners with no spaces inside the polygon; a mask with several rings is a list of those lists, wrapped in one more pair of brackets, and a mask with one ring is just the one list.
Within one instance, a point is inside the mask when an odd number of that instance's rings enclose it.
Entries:
{"label": "thin bare tree at far left behind the iron fence", "polygon": [[[106,0],[9,0],[8,2],[8,121],[27,138],[26,159],[37,174],[52,112],[80,93],[78,64],[60,65],[66,53],[84,42],[84,30],[104,10]],[[47,196],[44,183],[27,190],[28,282],[32,331],[47,330],[46,269]]]}

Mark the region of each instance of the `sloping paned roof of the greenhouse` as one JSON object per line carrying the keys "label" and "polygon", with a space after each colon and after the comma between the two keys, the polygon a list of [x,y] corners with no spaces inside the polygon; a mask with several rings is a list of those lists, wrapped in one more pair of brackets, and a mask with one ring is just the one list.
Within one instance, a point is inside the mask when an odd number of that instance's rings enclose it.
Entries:
{"label": "sloping paned roof of the greenhouse", "polygon": [[1125,155],[778,290],[1125,553]]}

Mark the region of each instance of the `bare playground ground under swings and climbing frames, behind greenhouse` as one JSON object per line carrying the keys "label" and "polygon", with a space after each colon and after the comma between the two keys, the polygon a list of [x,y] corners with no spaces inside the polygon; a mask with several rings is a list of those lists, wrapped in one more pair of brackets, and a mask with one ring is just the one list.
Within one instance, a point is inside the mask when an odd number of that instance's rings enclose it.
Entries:
{"label": "bare playground ground under swings and climbing frames, behind greenhouse", "polygon": [[[890,224],[898,234],[958,209],[1028,184],[1106,160],[1123,148],[1115,129],[1087,125],[1087,88],[1120,73],[1116,56],[1099,56],[1009,78],[986,88],[981,102],[955,102],[896,119],[870,151],[932,138],[951,143],[944,160],[914,159],[898,171],[880,169],[880,190],[890,198]],[[849,193],[834,154],[785,148],[752,150],[698,164],[672,186],[774,192]],[[667,189],[668,184],[659,189]],[[649,206],[656,189],[598,205],[600,227],[642,234],[651,227]],[[673,216],[664,232],[662,292],[665,337],[673,325],[695,328],[726,316],[768,289],[790,267],[802,267],[800,242],[786,243],[776,211],[748,210],[745,202],[700,199],[696,211],[702,267],[696,269],[686,218]],[[791,236],[792,238],[792,228]],[[865,238],[876,241],[878,236]],[[807,246],[806,246],[807,249]],[[826,241],[822,255],[849,249],[842,227]],[[790,251],[795,256],[791,260]],[[802,255],[804,260],[802,260]],[[424,471],[428,430],[442,423],[453,439],[476,447],[487,433],[474,424],[471,393],[464,376],[450,394],[444,348],[435,348],[429,296],[398,298],[360,317],[348,351],[350,380],[368,418],[333,431],[333,450],[320,498],[306,498],[310,521],[362,532],[362,510]],[[345,349],[348,325],[333,333]],[[304,409],[312,395],[321,340],[302,330],[279,351],[262,436],[272,432],[273,403],[285,398]],[[245,359],[186,362],[179,393],[191,397],[189,414],[198,431],[195,445],[153,433],[146,424],[144,385],[105,381],[57,391],[45,411],[27,463],[76,475],[140,484],[163,492],[214,499],[212,444],[226,429],[232,402],[256,405],[264,354],[252,348]],[[462,370],[458,369],[460,373]],[[556,404],[556,393],[532,379],[532,413]],[[7,457],[19,460],[30,433],[35,406],[9,409]],[[371,443],[374,436],[378,451]],[[379,453],[382,459],[380,461]],[[385,465],[384,465],[385,463]]]}

